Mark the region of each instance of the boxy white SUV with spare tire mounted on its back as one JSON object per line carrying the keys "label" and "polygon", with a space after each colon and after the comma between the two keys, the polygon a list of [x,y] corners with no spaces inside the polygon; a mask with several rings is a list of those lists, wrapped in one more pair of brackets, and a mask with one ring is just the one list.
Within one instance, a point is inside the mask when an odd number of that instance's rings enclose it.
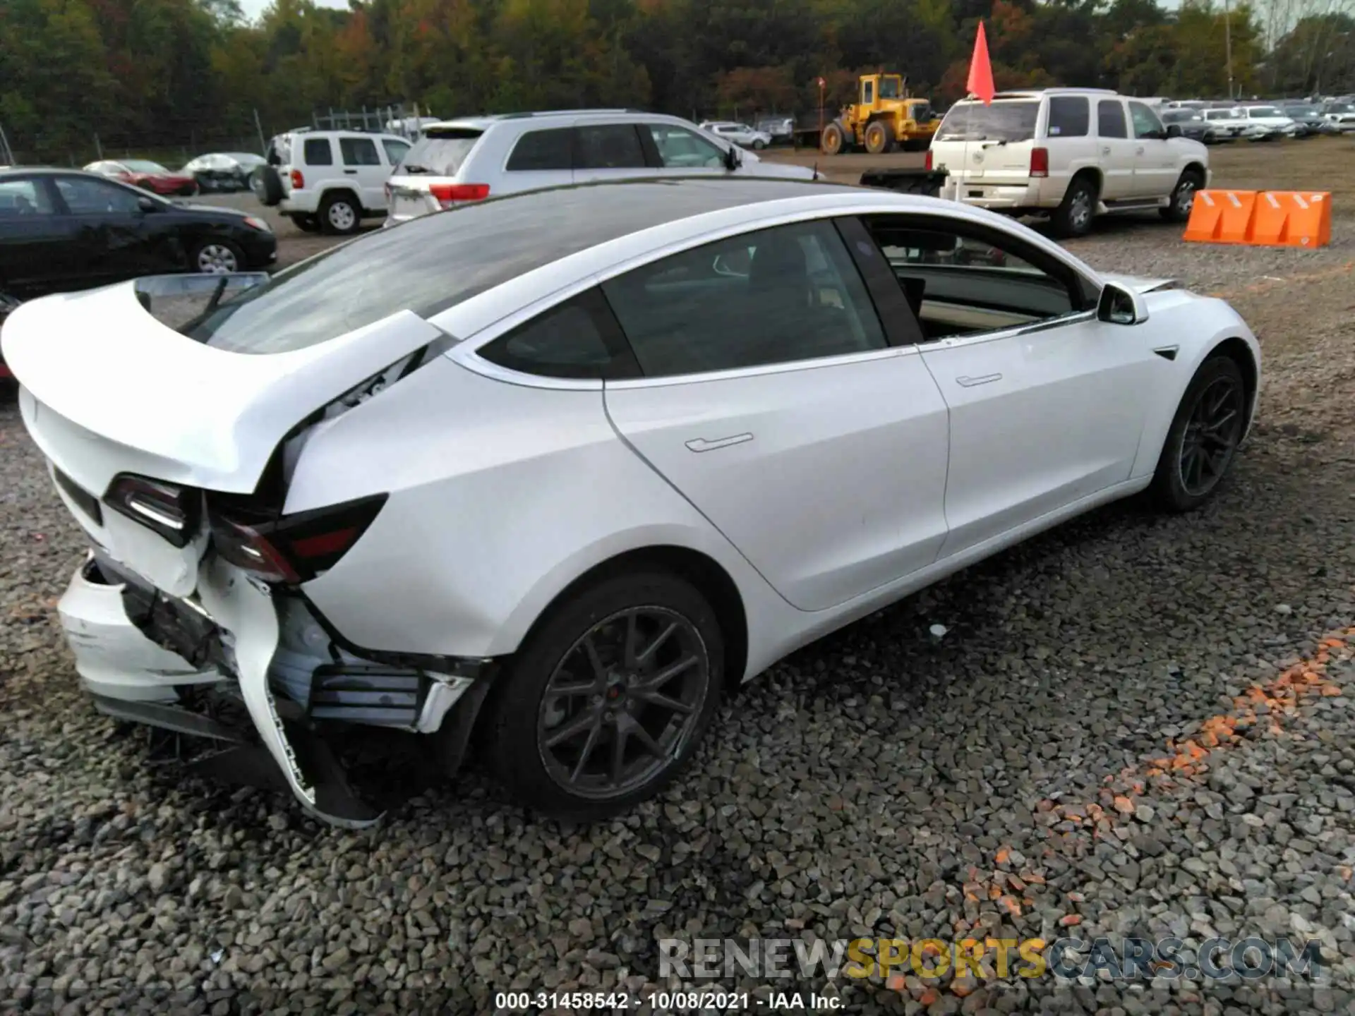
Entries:
{"label": "boxy white SUV with spare tire mounted on its back", "polygon": [[356,233],[363,218],[386,214],[386,180],[409,146],[396,134],[295,130],[268,144],[251,186],[301,229]]}

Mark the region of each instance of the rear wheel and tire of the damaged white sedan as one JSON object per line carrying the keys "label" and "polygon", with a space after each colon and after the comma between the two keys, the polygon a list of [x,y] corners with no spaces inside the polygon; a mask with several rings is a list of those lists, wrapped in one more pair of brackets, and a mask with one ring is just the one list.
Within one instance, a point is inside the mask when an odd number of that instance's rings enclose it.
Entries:
{"label": "rear wheel and tire of the damaged white sedan", "polygon": [[714,717],[722,653],[714,611],[682,578],[587,589],[528,637],[495,690],[493,768],[516,799],[560,818],[653,797]]}

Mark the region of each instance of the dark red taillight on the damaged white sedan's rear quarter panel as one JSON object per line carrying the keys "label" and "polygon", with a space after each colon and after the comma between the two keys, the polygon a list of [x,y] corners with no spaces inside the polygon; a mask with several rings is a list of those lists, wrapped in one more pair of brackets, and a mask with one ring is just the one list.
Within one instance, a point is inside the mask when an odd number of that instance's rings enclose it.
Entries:
{"label": "dark red taillight on the damaged white sedan's rear quarter panel", "polygon": [[308,583],[333,568],[367,531],[386,494],[276,519],[218,507],[209,494],[211,541],[225,561],[268,583]]}

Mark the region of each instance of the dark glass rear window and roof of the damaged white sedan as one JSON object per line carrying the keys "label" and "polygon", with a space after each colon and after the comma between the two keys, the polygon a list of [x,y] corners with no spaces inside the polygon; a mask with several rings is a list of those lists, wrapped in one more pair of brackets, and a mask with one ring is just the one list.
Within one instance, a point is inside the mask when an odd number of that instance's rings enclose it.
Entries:
{"label": "dark glass rear window and roof of the damaged white sedan", "polygon": [[280,271],[178,331],[233,352],[302,350],[400,310],[431,317],[618,236],[713,209],[794,196],[805,187],[798,180],[785,187],[759,182],[751,190],[722,183],[575,188],[570,200],[547,188],[421,215]]}

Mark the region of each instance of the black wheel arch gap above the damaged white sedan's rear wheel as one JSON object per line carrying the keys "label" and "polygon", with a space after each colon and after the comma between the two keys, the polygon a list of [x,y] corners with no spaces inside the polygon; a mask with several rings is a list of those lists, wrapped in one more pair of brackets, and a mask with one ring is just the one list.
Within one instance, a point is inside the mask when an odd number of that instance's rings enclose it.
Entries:
{"label": "black wheel arch gap above the damaged white sedan's rear wheel", "polygon": [[625,550],[587,569],[557,592],[537,614],[519,645],[531,638],[561,604],[583,589],[646,569],[663,570],[691,583],[710,603],[720,619],[720,631],[725,641],[725,687],[737,688],[748,666],[748,611],[744,597],[733,577],[718,561],[699,550],[676,543],[656,543]]}

